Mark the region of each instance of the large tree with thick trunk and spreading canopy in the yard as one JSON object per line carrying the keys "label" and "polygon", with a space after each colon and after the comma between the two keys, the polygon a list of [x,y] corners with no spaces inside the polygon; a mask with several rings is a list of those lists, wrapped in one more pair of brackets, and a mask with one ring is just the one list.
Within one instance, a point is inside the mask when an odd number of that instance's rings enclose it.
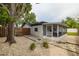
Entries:
{"label": "large tree with thick trunk and spreading canopy in the yard", "polygon": [[20,3],[20,4],[0,4],[0,7],[3,7],[10,16],[10,21],[8,22],[8,35],[7,40],[5,42],[9,42],[10,44],[15,43],[14,40],[14,23],[18,19],[24,16],[24,13],[29,13],[32,9],[32,5],[30,3]]}

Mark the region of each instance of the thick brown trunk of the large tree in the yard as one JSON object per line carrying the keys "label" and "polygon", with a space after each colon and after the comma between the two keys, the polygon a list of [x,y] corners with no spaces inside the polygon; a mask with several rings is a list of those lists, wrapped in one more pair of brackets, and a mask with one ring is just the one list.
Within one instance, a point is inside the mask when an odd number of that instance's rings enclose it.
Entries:
{"label": "thick brown trunk of the large tree in the yard", "polygon": [[[15,10],[15,4],[11,3],[11,10],[10,10],[10,16],[14,17],[14,10]],[[11,18],[13,20],[13,18]],[[8,34],[7,34],[7,40],[5,42],[9,42],[10,44],[15,43],[14,40],[14,22],[8,23]]]}

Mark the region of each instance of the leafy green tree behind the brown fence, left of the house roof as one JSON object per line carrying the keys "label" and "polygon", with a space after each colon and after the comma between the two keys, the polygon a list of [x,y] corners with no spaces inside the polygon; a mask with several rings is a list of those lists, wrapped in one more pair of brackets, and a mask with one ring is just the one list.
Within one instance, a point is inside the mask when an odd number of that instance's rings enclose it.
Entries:
{"label": "leafy green tree behind the brown fence, left of the house roof", "polygon": [[24,17],[16,21],[16,27],[23,27],[25,24],[33,24],[36,22],[36,15],[33,12],[24,14]]}

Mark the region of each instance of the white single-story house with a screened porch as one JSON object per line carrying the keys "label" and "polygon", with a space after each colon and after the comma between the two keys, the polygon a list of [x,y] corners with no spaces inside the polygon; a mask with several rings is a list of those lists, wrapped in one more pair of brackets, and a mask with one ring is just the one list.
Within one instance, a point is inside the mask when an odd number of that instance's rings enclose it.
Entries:
{"label": "white single-story house with a screened porch", "polygon": [[31,24],[31,35],[37,37],[59,37],[66,33],[66,25],[58,22],[37,22]]}

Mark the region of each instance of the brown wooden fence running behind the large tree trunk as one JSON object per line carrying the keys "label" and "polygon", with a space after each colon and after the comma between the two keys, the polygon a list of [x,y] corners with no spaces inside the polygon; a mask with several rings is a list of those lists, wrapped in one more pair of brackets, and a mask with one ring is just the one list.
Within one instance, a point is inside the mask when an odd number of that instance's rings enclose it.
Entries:
{"label": "brown wooden fence running behind the large tree trunk", "polygon": [[[30,35],[30,28],[15,28],[16,36]],[[7,29],[4,27],[0,27],[0,37],[7,36]]]}

